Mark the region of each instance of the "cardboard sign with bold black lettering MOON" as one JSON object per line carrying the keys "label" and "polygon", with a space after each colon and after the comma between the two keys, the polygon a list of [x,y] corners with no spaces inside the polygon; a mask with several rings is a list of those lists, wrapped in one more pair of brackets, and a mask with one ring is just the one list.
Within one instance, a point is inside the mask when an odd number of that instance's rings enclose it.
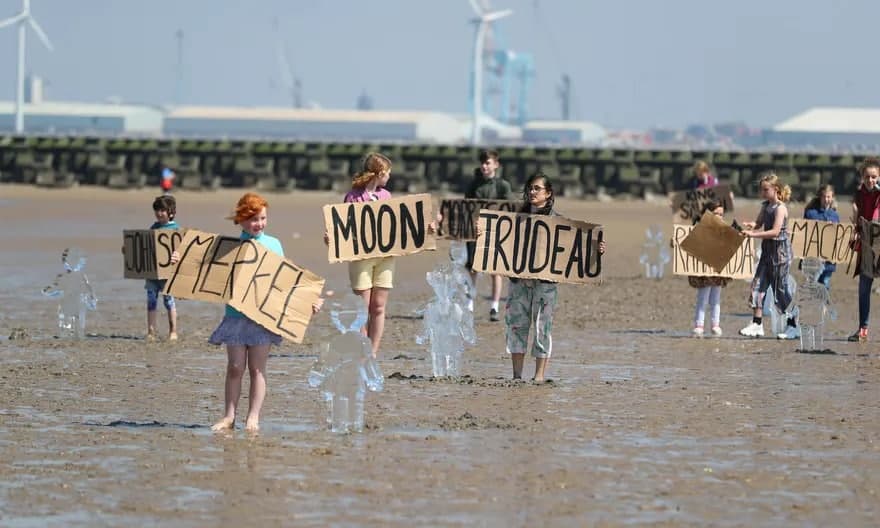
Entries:
{"label": "cardboard sign with bold black lettering MOON", "polygon": [[431,195],[324,206],[327,260],[350,262],[437,249],[428,232]]}

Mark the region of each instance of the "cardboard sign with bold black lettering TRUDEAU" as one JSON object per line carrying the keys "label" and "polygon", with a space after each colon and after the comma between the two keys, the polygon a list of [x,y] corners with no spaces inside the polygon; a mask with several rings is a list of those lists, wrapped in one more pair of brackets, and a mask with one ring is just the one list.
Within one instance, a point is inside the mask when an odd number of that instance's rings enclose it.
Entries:
{"label": "cardboard sign with bold black lettering TRUDEAU", "polygon": [[521,279],[601,282],[602,226],[561,216],[480,211],[474,271]]}

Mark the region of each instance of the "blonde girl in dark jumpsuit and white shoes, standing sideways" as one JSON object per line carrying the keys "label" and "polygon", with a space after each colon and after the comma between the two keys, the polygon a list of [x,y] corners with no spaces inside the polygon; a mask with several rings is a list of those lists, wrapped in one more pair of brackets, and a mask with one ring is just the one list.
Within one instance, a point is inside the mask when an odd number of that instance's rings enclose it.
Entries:
{"label": "blonde girl in dark jumpsuit and white shoes, standing sideways", "polygon": [[775,173],[768,172],[761,178],[761,196],[764,202],[757,220],[743,223],[746,228],[743,235],[761,240],[761,259],[752,280],[752,322],[739,333],[747,337],[763,337],[761,314],[764,294],[767,288],[773,288],[776,308],[788,318],[785,332],[776,337],[796,339],[800,331],[794,314],[789,312],[792,296],[788,288],[788,272],[792,254],[787,228],[788,208],[785,206],[791,196],[791,187],[783,184]]}

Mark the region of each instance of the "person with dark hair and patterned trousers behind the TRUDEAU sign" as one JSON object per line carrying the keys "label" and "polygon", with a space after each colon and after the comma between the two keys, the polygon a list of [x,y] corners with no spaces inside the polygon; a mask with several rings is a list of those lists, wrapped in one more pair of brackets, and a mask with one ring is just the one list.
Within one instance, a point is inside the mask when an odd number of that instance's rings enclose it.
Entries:
{"label": "person with dark hair and patterned trousers behind the TRUDEAU sign", "polygon": [[[521,213],[558,216],[553,209],[553,184],[543,173],[526,181]],[[599,243],[599,254],[605,242]],[[534,337],[531,352],[535,357],[535,381],[544,381],[553,348],[553,310],[556,308],[556,283],[539,279],[510,279],[504,321],[507,325],[507,353],[513,363],[513,378],[522,378],[530,333]]]}

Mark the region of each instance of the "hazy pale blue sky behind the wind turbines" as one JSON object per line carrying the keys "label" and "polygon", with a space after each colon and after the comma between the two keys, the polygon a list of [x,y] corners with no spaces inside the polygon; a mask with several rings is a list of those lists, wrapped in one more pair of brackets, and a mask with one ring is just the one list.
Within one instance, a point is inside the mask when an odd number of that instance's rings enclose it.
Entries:
{"label": "hazy pale blue sky behind the wind turbines", "polygon": [[[534,118],[561,117],[563,74],[572,118],[611,129],[765,127],[813,106],[880,107],[875,0],[491,7],[514,12],[499,40],[534,57]],[[0,19],[20,9],[0,0]],[[468,0],[32,0],[31,11],[55,47],[29,32],[27,71],[45,79],[48,99],[286,106],[280,40],[307,103],[354,108],[365,91],[377,109],[468,110]],[[16,49],[16,31],[0,29],[0,100],[15,96]]]}

